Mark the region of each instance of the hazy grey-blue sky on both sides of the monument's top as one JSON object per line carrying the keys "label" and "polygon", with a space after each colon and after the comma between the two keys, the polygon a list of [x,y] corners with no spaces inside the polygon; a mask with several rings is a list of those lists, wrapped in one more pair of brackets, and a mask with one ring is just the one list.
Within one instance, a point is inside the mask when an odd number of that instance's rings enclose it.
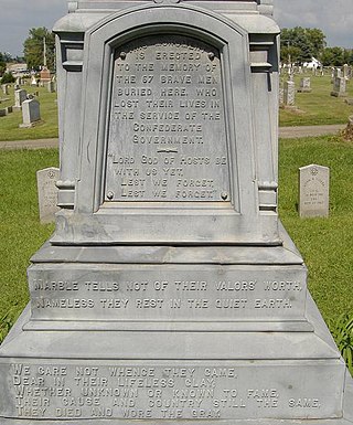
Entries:
{"label": "hazy grey-blue sky on both sides of the monument's top", "polygon": [[[352,0],[274,0],[281,28],[320,28],[328,45],[353,47]],[[22,55],[31,28],[52,29],[66,14],[67,0],[0,0],[0,52]]]}

